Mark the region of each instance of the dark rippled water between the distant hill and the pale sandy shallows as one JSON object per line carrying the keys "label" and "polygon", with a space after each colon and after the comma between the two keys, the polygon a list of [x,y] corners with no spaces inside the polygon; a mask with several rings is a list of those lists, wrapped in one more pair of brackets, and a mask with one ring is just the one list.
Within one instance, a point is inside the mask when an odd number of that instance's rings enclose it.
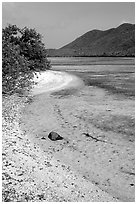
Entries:
{"label": "dark rippled water between the distant hill and the pale sandy shallows", "polygon": [[85,85],[96,86],[119,96],[135,96],[135,59],[120,57],[54,57],[52,70],[80,77]]}

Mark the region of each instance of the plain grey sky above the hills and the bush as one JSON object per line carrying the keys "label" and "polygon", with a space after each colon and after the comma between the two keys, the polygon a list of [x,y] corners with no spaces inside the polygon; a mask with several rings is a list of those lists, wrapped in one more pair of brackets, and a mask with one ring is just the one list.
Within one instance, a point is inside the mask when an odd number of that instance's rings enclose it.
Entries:
{"label": "plain grey sky above the hills and the bush", "polygon": [[3,2],[2,27],[35,28],[46,48],[60,48],[84,33],[135,23],[134,2]]}

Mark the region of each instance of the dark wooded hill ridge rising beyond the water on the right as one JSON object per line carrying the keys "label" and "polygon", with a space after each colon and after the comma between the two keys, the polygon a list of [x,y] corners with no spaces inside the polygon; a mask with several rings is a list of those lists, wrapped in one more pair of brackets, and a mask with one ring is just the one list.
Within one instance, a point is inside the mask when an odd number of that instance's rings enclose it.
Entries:
{"label": "dark wooded hill ridge rising beyond the water on the right", "polygon": [[48,56],[135,56],[135,24],[124,23],[109,30],[92,30]]}

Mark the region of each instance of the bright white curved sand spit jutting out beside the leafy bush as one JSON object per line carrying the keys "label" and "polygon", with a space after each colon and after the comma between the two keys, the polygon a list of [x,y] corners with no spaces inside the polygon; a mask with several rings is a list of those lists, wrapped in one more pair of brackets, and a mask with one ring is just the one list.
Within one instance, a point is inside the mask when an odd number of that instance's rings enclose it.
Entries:
{"label": "bright white curved sand spit jutting out beside the leafy bush", "polygon": [[59,90],[69,85],[77,77],[69,75],[65,72],[58,71],[46,71],[37,74],[38,77],[34,77],[34,82],[37,84],[32,90],[32,94],[40,94],[43,92],[49,92],[53,90]]}

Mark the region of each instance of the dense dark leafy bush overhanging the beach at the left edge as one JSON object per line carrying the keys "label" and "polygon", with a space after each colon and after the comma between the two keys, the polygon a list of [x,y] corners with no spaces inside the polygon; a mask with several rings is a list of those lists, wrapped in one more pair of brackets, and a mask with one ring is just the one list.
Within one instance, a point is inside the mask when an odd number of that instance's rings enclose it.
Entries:
{"label": "dense dark leafy bush overhanging the beach at the left edge", "polygon": [[42,37],[35,29],[9,25],[2,29],[2,91],[30,88],[36,72],[50,68]]}

